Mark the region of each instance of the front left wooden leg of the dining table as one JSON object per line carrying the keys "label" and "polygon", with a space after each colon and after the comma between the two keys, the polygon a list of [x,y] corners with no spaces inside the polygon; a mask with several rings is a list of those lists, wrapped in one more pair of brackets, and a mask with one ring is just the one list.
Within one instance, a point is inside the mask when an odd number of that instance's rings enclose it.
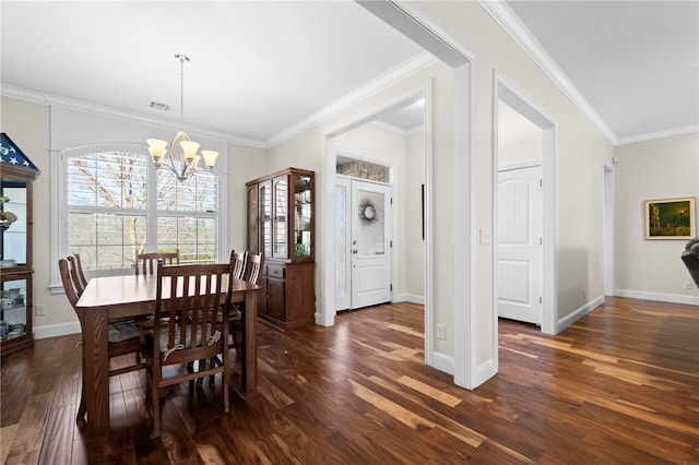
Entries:
{"label": "front left wooden leg of the dining table", "polygon": [[109,436],[109,347],[106,310],[85,311],[83,318],[83,358],[87,430],[97,437]]}

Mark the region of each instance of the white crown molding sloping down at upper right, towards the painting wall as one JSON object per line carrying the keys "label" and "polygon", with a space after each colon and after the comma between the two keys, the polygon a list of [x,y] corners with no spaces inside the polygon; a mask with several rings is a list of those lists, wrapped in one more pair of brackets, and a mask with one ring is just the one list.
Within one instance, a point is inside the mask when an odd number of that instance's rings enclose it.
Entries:
{"label": "white crown molding sloping down at upper right, towards the painting wall", "polygon": [[548,55],[531,31],[526,28],[514,11],[501,0],[478,0],[478,3],[481,3],[485,11],[522,47],[526,55],[529,55],[542,71],[570,98],[594,127],[597,128],[612,144],[616,145],[618,139],[616,134],[602,117],[600,117],[592,105],[590,105],[588,99],[582,96],[578,87],[573,85],[572,81],[570,81],[560,67],[558,67],[558,63]]}

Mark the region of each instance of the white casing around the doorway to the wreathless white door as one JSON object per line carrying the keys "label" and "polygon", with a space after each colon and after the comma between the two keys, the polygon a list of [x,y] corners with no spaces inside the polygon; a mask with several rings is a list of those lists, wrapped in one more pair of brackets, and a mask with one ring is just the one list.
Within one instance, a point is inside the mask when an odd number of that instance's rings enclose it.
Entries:
{"label": "white casing around the doorway to the wreathless white door", "polygon": [[[542,296],[542,333],[558,333],[558,259],[556,253],[556,151],[557,127],[543,110],[520,93],[497,71],[493,72],[493,207],[498,205],[498,103],[503,102],[524,118],[542,129],[542,177],[544,196],[543,229],[543,296]],[[494,236],[497,236],[497,215],[493,215]],[[495,241],[497,243],[497,241]],[[493,248],[493,282],[497,283],[497,247]],[[493,286],[493,308],[497,315],[497,286]],[[497,318],[494,319],[494,341],[498,341]],[[497,346],[494,348],[497,354]]]}

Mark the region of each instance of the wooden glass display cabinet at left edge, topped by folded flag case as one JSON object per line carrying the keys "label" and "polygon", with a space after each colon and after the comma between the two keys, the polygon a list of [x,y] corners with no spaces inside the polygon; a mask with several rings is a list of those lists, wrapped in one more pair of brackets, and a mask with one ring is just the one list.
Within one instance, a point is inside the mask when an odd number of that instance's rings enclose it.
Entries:
{"label": "wooden glass display cabinet at left edge, topped by folded flag case", "polygon": [[32,347],[32,187],[39,170],[0,136],[0,351]]}

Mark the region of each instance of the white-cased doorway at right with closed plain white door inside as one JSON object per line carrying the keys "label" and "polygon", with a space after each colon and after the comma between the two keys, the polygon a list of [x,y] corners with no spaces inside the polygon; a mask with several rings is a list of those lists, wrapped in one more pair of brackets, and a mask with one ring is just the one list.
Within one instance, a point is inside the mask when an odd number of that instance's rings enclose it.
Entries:
{"label": "white-cased doorway at right with closed plain white door inside", "polygon": [[[522,311],[522,314],[529,312],[530,317],[521,318],[522,321],[538,324],[543,333],[556,334],[556,126],[497,73],[494,74],[494,309],[498,309],[499,313],[502,297],[510,297],[510,303],[514,302],[510,307],[514,307],[516,311]],[[510,141],[505,141],[506,135]],[[506,147],[506,143],[516,148]],[[532,206],[532,214],[528,213],[525,218],[507,214],[509,194],[500,190],[500,181],[508,171],[517,172],[519,196],[526,196],[528,204]],[[535,175],[526,180],[519,176],[525,172],[531,175],[532,171]],[[523,225],[522,222],[530,223]],[[519,230],[511,229],[514,226],[519,226]],[[524,231],[522,226],[526,226],[526,235],[521,234]],[[511,243],[506,243],[508,240],[519,241],[519,247],[509,249]],[[501,252],[503,257],[500,255]],[[512,266],[508,267],[508,263]],[[534,317],[531,317],[532,314]],[[511,317],[512,313],[508,313],[508,318]],[[497,319],[494,331],[497,341]],[[497,347],[495,350],[497,353]]]}

